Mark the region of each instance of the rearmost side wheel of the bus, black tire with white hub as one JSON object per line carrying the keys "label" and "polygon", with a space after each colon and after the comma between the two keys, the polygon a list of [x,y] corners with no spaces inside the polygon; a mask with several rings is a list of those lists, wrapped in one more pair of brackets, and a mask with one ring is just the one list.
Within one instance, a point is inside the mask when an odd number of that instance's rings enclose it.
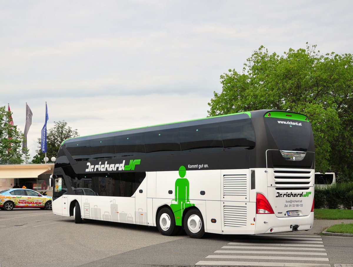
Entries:
{"label": "rearmost side wheel of the bus, black tire with white hub", "polygon": [[186,212],[184,217],[184,229],[191,238],[201,238],[205,234],[205,226],[202,214],[197,209],[191,209]]}

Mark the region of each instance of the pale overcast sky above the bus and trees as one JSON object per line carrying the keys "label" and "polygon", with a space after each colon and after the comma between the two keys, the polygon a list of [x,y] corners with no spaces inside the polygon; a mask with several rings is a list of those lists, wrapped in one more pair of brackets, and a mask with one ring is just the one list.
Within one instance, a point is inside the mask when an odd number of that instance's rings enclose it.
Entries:
{"label": "pale overcast sky above the bus and trees", "polygon": [[36,154],[45,122],[81,136],[204,118],[220,75],[264,45],[351,53],[353,1],[0,1],[1,106]]}

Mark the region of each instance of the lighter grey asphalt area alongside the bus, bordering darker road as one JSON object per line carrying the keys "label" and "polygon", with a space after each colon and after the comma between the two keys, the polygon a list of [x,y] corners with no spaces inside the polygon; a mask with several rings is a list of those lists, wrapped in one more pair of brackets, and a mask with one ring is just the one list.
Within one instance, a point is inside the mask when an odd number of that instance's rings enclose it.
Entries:
{"label": "lighter grey asphalt area alongside the bus, bordering darker road", "polygon": [[0,210],[2,267],[79,266],[130,250],[187,238],[157,228],[104,221],[75,224],[73,217],[40,209]]}

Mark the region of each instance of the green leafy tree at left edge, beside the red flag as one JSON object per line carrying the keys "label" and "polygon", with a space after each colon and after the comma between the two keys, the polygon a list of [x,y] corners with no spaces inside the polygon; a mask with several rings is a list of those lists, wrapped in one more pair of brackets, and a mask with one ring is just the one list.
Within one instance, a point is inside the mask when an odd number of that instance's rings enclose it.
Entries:
{"label": "green leafy tree at left edge, beside the red flag", "polygon": [[[6,107],[0,107],[0,164],[23,163],[22,142],[23,133],[17,129],[17,125],[11,125],[12,112]],[[11,139],[9,139],[11,138]]]}

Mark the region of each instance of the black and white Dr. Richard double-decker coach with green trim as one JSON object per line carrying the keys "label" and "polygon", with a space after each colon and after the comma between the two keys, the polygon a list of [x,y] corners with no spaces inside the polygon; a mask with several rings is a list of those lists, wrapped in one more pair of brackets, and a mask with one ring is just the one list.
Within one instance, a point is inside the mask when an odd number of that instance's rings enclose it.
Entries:
{"label": "black and white Dr. Richard double-decker coach with green trim", "polygon": [[55,162],[53,213],[193,238],[310,230],[314,162],[308,118],[287,111],[71,138]]}

